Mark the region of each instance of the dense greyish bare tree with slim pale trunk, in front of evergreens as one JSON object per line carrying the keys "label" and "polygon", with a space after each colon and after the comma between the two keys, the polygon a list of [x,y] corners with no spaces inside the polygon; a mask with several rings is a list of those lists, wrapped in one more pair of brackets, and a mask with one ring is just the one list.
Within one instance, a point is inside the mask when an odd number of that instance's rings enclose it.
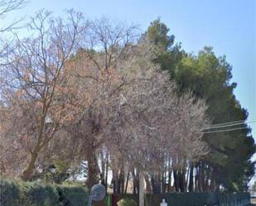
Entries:
{"label": "dense greyish bare tree with slim pale trunk, in front of evergreens", "polygon": [[129,84],[114,101],[116,112],[106,131],[113,155],[136,168],[140,205],[144,204],[144,176],[163,170],[167,157],[178,168],[208,152],[199,130],[209,122],[205,103],[190,94],[179,97],[175,84],[152,63],[152,57],[146,40],[124,60],[122,79]]}

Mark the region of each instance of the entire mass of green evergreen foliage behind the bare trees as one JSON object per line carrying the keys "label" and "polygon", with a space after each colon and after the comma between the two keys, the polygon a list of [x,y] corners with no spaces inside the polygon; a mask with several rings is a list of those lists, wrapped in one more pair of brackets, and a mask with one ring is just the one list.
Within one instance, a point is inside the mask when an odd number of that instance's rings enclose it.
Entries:
{"label": "entire mass of green evergreen foliage behind the bare trees", "polygon": [[[146,34],[161,51],[154,60],[176,80],[179,92],[191,91],[204,98],[209,106],[207,114],[212,123],[246,120],[247,111],[234,96],[236,83],[230,83],[232,66],[225,56],[216,57],[212,47],[205,47],[198,55],[187,54],[181,46],[173,46],[174,36],[159,19],[152,22]],[[229,191],[244,190],[254,175],[254,163],[250,161],[256,147],[244,122],[239,127],[247,129],[233,132],[205,134],[210,146],[210,156],[204,160],[213,168],[218,184]],[[232,128],[232,127],[229,127]]]}

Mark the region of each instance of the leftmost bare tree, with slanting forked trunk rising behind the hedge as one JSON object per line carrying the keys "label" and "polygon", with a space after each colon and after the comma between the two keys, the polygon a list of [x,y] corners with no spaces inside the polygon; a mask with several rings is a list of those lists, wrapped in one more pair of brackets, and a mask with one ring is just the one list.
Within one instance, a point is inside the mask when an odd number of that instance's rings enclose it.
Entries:
{"label": "leftmost bare tree, with slanting forked trunk rising behind the hedge", "polygon": [[[82,22],[83,26],[80,26]],[[31,134],[27,142],[30,159],[22,172],[23,180],[29,180],[42,148],[51,141],[65,119],[72,116],[67,113],[65,99],[59,95],[60,74],[75,52],[86,24],[80,13],[69,11],[64,22],[51,17],[50,12],[41,11],[31,19],[27,29],[31,31],[31,37],[21,40],[17,36],[13,45],[8,47],[5,66],[1,68],[1,89],[7,94],[2,98],[9,100],[13,94],[11,98],[15,102],[9,106],[6,101],[5,107],[16,107],[28,122],[33,122],[32,131],[26,123],[19,131],[19,136],[23,136],[27,129]]]}

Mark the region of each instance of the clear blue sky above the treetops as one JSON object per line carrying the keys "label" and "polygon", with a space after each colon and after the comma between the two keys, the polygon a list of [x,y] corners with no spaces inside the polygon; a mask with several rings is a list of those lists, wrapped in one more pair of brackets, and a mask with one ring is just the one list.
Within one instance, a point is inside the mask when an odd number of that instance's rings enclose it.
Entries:
{"label": "clear blue sky above the treetops", "polygon": [[[41,8],[62,14],[66,8],[85,12],[89,18],[111,17],[147,29],[161,17],[186,51],[197,53],[213,46],[216,55],[226,55],[233,65],[234,93],[256,120],[256,1],[255,0],[31,0],[10,15],[32,15]],[[7,19],[8,20],[8,19]],[[235,120],[235,119],[234,119]],[[256,123],[250,124],[256,137]]]}

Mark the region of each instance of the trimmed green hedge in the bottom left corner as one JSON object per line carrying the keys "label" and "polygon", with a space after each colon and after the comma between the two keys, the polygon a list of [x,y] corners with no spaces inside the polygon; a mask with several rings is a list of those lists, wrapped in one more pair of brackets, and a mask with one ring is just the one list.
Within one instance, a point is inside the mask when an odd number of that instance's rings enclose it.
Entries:
{"label": "trimmed green hedge in the bottom left corner", "polygon": [[87,199],[84,186],[0,180],[1,206],[81,206]]}

